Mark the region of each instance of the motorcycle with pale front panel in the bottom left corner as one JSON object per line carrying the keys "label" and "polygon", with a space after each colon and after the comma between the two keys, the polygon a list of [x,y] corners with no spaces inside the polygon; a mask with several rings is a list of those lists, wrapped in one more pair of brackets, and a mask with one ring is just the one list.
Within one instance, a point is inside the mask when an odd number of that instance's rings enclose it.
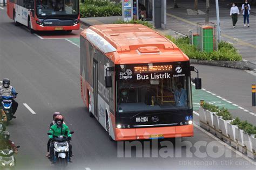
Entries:
{"label": "motorcycle with pale front panel in the bottom left corner", "polygon": [[[19,148],[19,146],[17,146]],[[0,151],[0,169],[15,169],[14,151],[5,149]]]}

